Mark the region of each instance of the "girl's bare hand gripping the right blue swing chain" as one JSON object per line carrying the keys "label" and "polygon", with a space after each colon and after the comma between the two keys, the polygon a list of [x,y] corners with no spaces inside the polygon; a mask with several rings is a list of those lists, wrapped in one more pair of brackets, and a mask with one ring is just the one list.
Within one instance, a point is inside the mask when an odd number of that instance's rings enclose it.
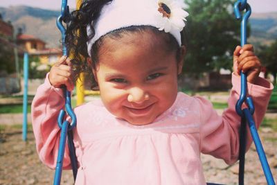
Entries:
{"label": "girl's bare hand gripping the right blue swing chain", "polygon": [[255,55],[253,46],[245,44],[243,47],[237,46],[233,52],[233,71],[235,75],[240,75],[240,71],[247,73],[247,81],[255,84],[260,74],[261,64]]}

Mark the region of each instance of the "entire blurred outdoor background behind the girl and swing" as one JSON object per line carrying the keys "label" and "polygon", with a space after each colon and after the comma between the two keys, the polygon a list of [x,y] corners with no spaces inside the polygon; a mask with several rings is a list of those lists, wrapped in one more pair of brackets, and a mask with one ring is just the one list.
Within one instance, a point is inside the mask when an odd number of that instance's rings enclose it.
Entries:
{"label": "entire blurred outdoor background behind the girl and swing", "polygon": [[[219,114],[227,107],[231,88],[232,57],[240,45],[240,21],[235,20],[232,0],[186,0],[190,16],[184,43],[188,49],[179,90],[199,94],[212,101]],[[277,1],[249,0],[252,9],[247,41],[254,45],[262,61],[262,78],[274,83],[277,75]],[[69,0],[70,10],[76,1]],[[36,154],[30,125],[30,103],[46,73],[62,56],[61,36],[55,21],[61,1],[0,1],[0,184],[51,184],[53,170],[43,166]],[[28,140],[22,141],[24,97],[24,53],[28,53]],[[99,98],[84,76],[81,102]],[[73,107],[78,103],[73,91]],[[260,136],[277,177],[277,89],[271,96]],[[238,164],[203,156],[208,181],[236,184]],[[266,184],[255,147],[247,153],[246,184]],[[16,178],[15,178],[16,177]],[[63,175],[63,184],[73,184],[71,172]]]}

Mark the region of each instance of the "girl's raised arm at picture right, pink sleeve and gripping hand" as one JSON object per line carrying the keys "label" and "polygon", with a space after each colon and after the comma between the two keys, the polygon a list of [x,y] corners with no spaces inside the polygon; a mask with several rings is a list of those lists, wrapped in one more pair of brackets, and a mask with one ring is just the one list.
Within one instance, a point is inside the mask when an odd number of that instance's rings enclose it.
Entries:
{"label": "girl's raised arm at picture right, pink sleeve and gripping hand", "polygon": [[[222,116],[218,116],[211,103],[199,98],[199,110],[202,115],[201,127],[201,148],[203,153],[224,159],[231,164],[238,160],[240,147],[239,131],[241,118],[235,112],[235,104],[240,96],[239,72],[247,72],[248,96],[253,98],[255,113],[253,119],[256,127],[260,126],[265,116],[267,105],[271,96],[273,85],[267,80],[258,77],[260,73],[260,60],[253,53],[253,46],[246,44],[243,47],[237,46],[233,53],[232,75],[233,88],[228,101],[229,107]],[[245,105],[242,106],[242,109]],[[247,126],[247,150],[251,145],[251,134]]]}

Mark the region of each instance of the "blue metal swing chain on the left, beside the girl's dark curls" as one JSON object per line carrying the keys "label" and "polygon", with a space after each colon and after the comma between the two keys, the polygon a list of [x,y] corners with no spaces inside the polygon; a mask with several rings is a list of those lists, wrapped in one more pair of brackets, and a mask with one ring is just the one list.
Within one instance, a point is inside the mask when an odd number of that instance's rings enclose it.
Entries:
{"label": "blue metal swing chain on the left, beside the girl's dark curls", "polygon": [[[67,0],[62,0],[62,8],[61,8],[61,15],[57,17],[57,28],[59,28],[60,32],[62,33],[62,54],[68,55],[68,51],[65,45],[65,33],[66,29],[64,28],[62,22],[66,22],[66,17],[69,15],[69,6],[67,6]],[[54,177],[54,185],[59,185],[62,177],[62,164],[64,160],[64,150],[66,144],[66,134],[68,139],[68,146],[69,146],[69,153],[71,159],[71,167],[73,169],[73,177],[74,181],[77,176],[77,159],[75,156],[75,148],[73,144],[73,133],[72,129],[76,126],[76,116],[71,108],[71,93],[67,91],[66,87],[63,87],[64,90],[64,98],[65,98],[65,109],[60,110],[60,114],[57,118],[57,123],[61,128],[61,136],[60,136],[60,144],[59,150],[57,154],[57,165],[55,168],[55,177]],[[71,123],[69,121],[64,120],[65,113],[69,114],[71,118]]]}

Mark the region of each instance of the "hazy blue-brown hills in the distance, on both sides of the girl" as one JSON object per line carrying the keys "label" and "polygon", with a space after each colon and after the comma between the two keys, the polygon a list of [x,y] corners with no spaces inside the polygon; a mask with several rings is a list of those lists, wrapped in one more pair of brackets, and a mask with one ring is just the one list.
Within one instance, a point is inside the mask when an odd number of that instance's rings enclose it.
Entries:
{"label": "hazy blue-brown hills in the distance, on both sides of the girl", "polygon": [[[60,46],[60,31],[55,24],[60,11],[11,6],[0,7],[0,13],[5,21],[12,22],[15,30],[22,28],[24,33],[43,39],[48,43],[48,47]],[[277,12],[253,14],[249,22],[251,24],[249,42],[271,44],[274,39],[277,39]]]}

